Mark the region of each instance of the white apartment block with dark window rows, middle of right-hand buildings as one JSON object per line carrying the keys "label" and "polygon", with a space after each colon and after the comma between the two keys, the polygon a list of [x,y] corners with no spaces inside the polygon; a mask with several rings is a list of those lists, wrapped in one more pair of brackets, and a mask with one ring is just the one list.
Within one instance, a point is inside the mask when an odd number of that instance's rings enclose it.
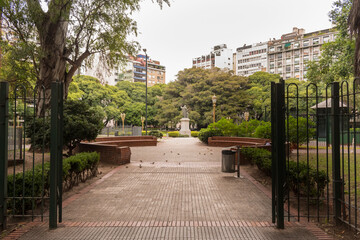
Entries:
{"label": "white apartment block with dark window rows, middle of right-hand buildings", "polygon": [[244,45],[236,49],[236,75],[250,76],[267,70],[267,42]]}

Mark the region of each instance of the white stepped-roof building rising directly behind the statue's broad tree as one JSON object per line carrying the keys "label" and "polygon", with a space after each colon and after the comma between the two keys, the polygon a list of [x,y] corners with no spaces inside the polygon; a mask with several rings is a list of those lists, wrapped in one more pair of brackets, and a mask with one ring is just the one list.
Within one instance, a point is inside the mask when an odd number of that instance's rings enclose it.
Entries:
{"label": "white stepped-roof building rising directly behind the statue's broad tree", "polygon": [[226,44],[214,46],[209,54],[193,58],[192,66],[204,69],[218,67],[233,70],[233,52],[227,48]]}

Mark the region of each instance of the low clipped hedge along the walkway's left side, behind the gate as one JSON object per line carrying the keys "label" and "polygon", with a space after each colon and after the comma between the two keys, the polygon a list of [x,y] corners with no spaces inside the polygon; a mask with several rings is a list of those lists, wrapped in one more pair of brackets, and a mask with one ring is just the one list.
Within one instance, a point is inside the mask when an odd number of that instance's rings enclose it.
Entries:
{"label": "low clipped hedge along the walkway's left side, behind the gate", "polygon": [[[93,153],[79,153],[63,160],[63,187],[64,190],[71,189],[74,185],[78,184],[79,181],[86,181],[86,179],[97,175],[98,163],[100,160],[100,154]],[[44,175],[42,173],[44,172]],[[44,181],[43,181],[44,179]],[[25,188],[23,188],[23,184]],[[33,189],[34,186],[34,189]],[[37,164],[33,170],[27,170],[24,173],[20,172],[15,174],[15,189],[14,189],[14,175],[8,176],[8,197],[47,197],[50,191],[50,162]],[[44,188],[43,188],[44,187]],[[42,192],[44,189],[44,192]],[[23,195],[23,190],[25,190]],[[15,193],[14,193],[15,191]],[[33,207],[40,202],[31,199],[9,199],[8,209],[12,209],[15,204],[15,214],[23,211],[31,210]],[[34,204],[34,206],[33,206]]]}

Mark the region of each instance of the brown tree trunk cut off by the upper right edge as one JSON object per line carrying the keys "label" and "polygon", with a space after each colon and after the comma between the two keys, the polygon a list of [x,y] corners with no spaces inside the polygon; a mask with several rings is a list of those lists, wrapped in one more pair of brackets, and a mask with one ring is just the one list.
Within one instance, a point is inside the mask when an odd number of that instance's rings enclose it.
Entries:
{"label": "brown tree trunk cut off by the upper right edge", "polygon": [[348,18],[350,34],[355,36],[354,74],[360,77],[360,0],[353,0]]}

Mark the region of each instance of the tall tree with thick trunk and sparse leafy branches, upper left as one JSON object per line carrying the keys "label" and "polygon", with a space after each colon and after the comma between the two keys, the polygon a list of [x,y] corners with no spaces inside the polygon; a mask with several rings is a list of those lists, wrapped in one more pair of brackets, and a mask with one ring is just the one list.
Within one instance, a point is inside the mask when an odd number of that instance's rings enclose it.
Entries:
{"label": "tall tree with thick trunk and sparse leafy branches, upper left", "polygon": [[91,55],[99,53],[112,67],[137,51],[138,44],[127,36],[137,33],[131,14],[140,9],[140,1],[4,0],[3,20],[16,39],[14,47],[29,53],[46,99],[53,81],[64,82],[66,97],[73,75],[84,62],[91,63]]}

